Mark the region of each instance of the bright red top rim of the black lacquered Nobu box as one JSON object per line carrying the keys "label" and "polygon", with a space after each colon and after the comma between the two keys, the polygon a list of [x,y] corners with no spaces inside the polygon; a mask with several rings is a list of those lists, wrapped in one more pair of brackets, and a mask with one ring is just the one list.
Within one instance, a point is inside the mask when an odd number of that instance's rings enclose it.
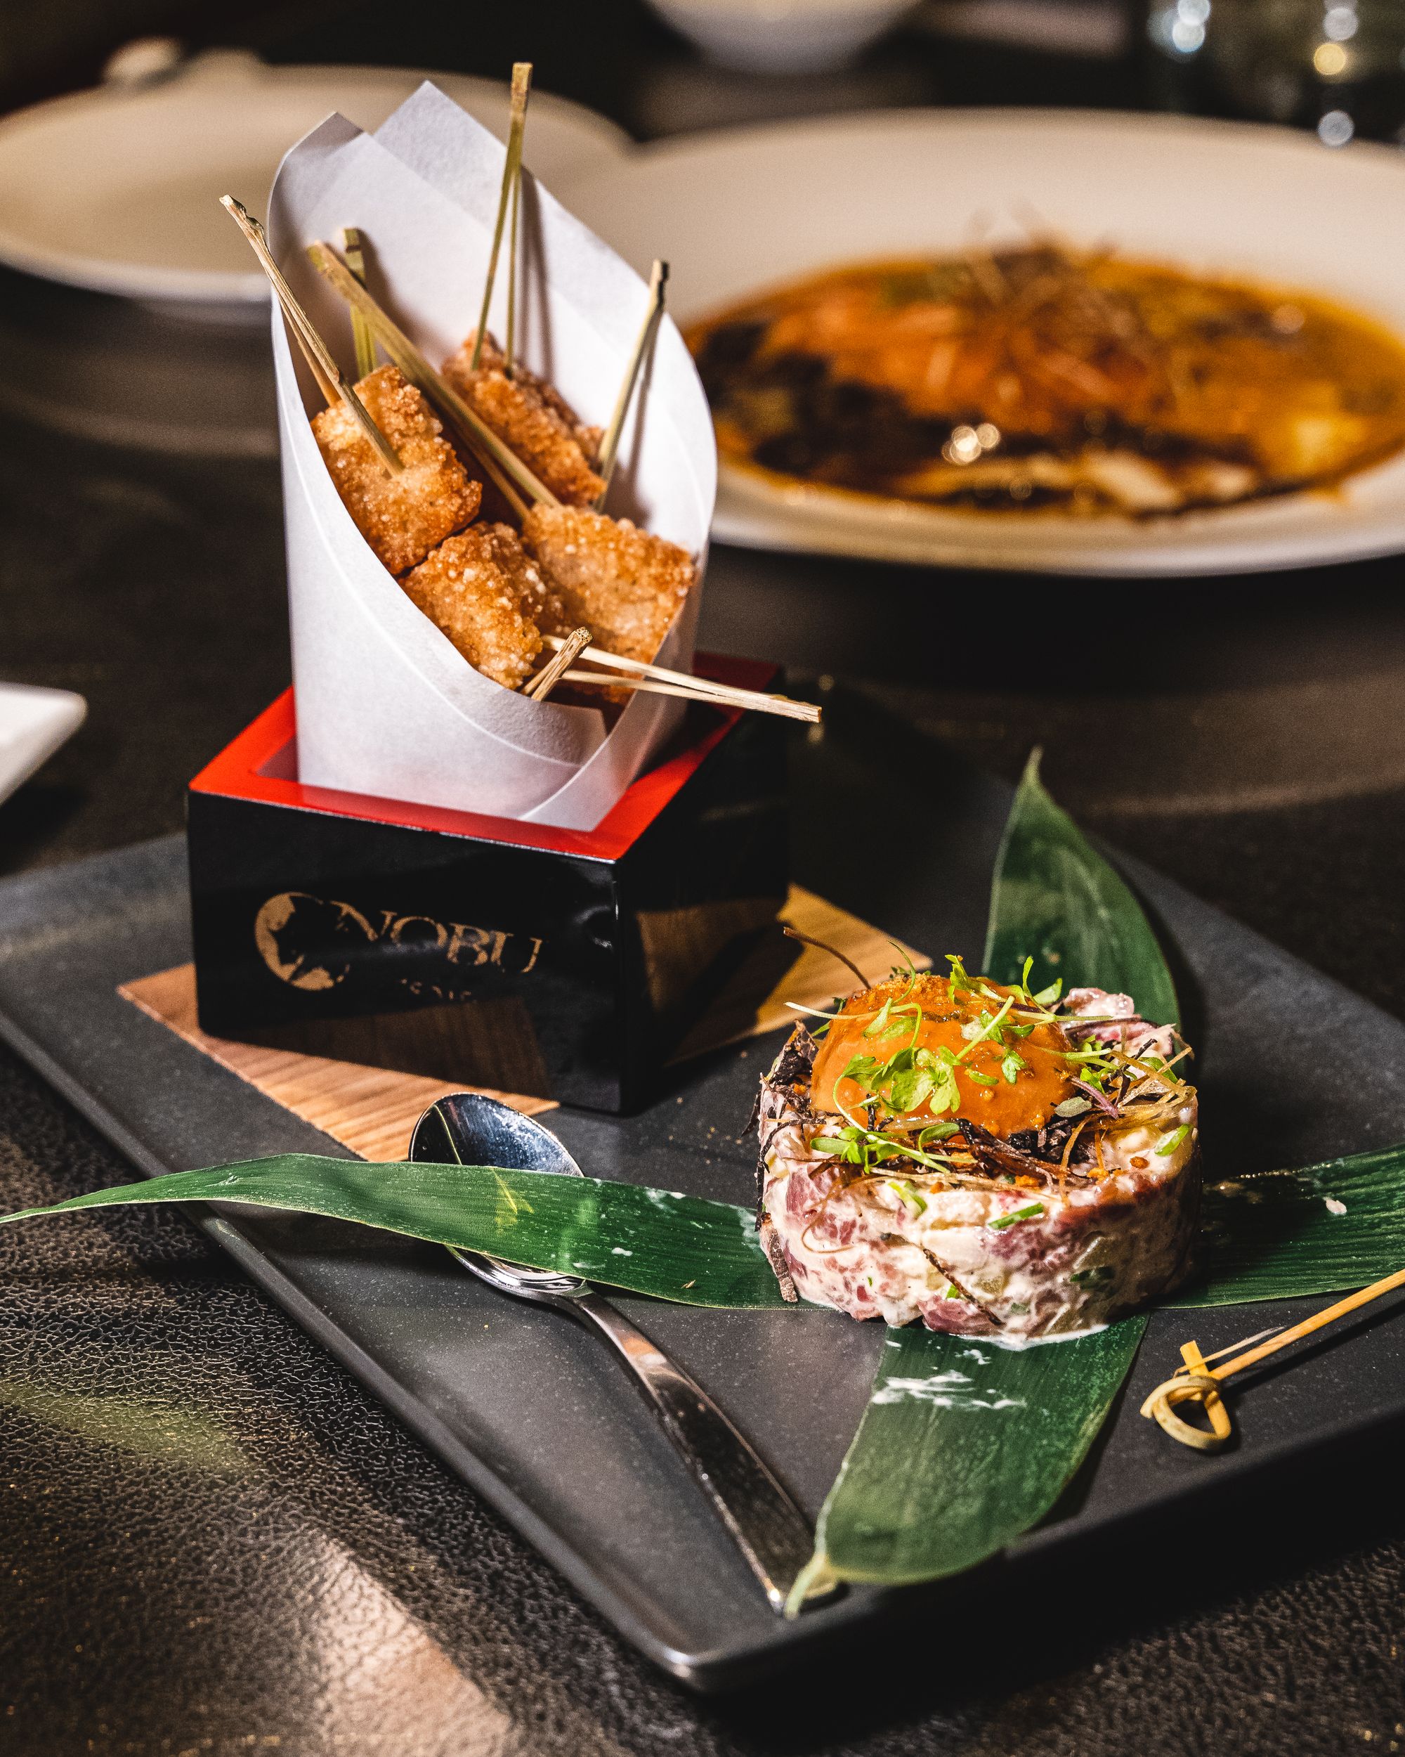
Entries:
{"label": "bright red top rim of the black lacquered Nobu box", "polygon": [[[776,668],[755,659],[724,659],[697,654],[694,669],[717,683],[739,689],[767,689]],[[286,689],[272,706],[248,726],[190,784],[191,792],[214,792],[227,799],[253,799],[262,805],[297,806],[332,817],[364,817],[376,824],[404,829],[437,829],[450,836],[479,842],[511,842],[523,849],[548,849],[555,854],[583,854],[588,859],[618,859],[648,829],[664,806],[697,773],[706,757],[741,719],[739,708],[690,705],[681,736],[683,747],[671,747],[664,761],[632,782],[618,805],[594,829],[558,829],[553,824],[523,824],[515,817],[490,817],[485,812],[455,812],[439,805],[411,805],[406,799],[378,799],[372,794],[339,792],[334,787],[304,787],[293,778],[297,710]]]}

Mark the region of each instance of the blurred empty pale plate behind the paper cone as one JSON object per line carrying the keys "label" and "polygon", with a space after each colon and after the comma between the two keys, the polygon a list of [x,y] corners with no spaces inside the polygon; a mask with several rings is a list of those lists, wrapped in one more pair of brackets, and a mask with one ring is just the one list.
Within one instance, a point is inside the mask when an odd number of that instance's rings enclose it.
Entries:
{"label": "blurred empty pale plate behind the paper cone", "polygon": [[[283,155],[332,111],[378,128],[432,77],[508,132],[508,88],[458,74],[386,67],[265,67],[214,51],[139,90],[98,88],[0,121],[0,262],[133,299],[265,304],[218,202],[256,213]],[[618,158],[629,137],[550,93],[534,93],[525,160],[548,188]],[[348,223],[355,223],[348,216]]]}

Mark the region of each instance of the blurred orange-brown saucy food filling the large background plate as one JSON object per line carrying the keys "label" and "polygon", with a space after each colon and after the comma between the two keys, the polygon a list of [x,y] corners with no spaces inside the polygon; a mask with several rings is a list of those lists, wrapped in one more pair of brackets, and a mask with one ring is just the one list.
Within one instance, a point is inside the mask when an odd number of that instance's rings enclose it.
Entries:
{"label": "blurred orange-brown saucy food filling the large background plate", "polygon": [[838,269],[688,346],[724,460],[922,504],[1156,517],[1405,445],[1405,346],[1373,320],[1047,244]]}

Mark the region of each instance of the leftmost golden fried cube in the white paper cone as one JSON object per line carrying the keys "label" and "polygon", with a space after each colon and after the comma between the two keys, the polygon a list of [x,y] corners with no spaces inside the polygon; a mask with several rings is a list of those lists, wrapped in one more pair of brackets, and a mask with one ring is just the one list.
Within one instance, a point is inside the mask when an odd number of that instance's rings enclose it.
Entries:
{"label": "leftmost golden fried cube in the white paper cone", "polygon": [[441,437],[443,427],[420,392],[393,365],[381,365],[358,385],[371,420],[400,457],[392,476],[344,402],[313,416],[327,469],[357,529],[395,575],[422,562],[446,536],[478,513],[483,485],[464,469]]}

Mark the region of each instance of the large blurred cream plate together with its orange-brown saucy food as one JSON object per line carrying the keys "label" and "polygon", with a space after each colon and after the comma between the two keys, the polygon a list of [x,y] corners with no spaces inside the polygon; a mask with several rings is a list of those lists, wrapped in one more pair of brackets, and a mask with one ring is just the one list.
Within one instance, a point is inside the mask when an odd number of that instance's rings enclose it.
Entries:
{"label": "large blurred cream plate together with its orange-brown saucy food", "polygon": [[671,264],[722,541],[1099,575],[1405,548],[1393,149],[899,111],[664,142],[571,200]]}

